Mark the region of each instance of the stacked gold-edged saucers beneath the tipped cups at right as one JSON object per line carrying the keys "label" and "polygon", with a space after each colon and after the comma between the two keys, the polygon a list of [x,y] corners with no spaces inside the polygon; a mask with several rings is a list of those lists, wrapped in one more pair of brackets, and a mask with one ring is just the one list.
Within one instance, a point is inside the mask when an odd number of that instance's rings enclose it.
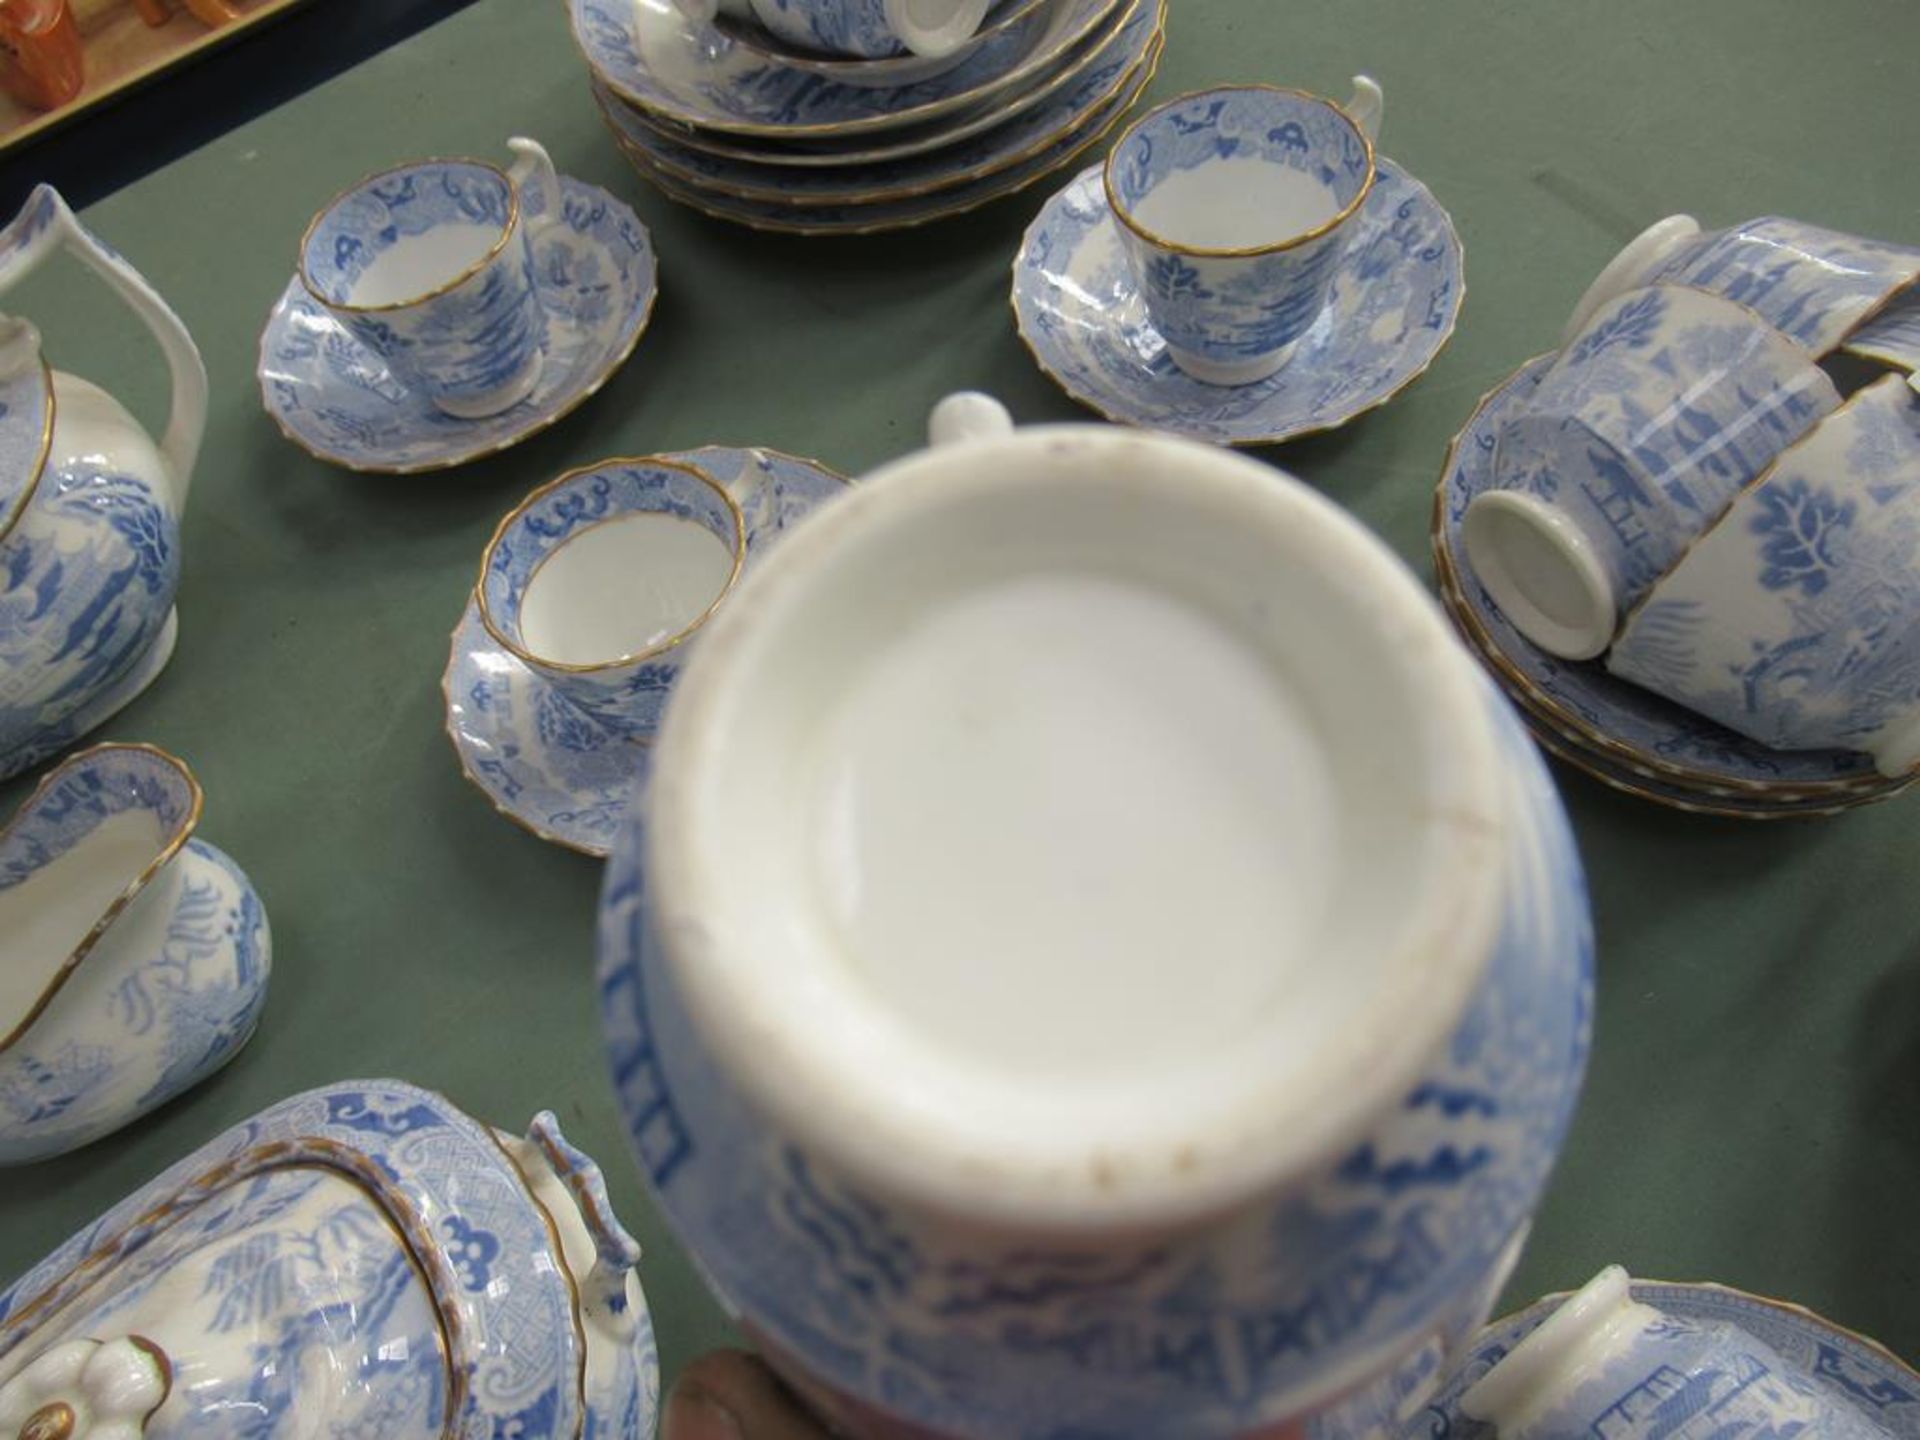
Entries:
{"label": "stacked gold-edged saucers beneath the tipped cups at right", "polygon": [[1523,365],[1453,438],[1434,495],[1432,547],[1455,628],[1513,695],[1549,749],[1619,789],[1661,803],[1761,814],[1818,814],[1905,787],[1859,751],[1776,751],[1630,685],[1597,662],[1561,660],[1528,641],[1473,578],[1459,540],[1467,505],[1494,484],[1501,420],[1524,403],[1551,355]]}

